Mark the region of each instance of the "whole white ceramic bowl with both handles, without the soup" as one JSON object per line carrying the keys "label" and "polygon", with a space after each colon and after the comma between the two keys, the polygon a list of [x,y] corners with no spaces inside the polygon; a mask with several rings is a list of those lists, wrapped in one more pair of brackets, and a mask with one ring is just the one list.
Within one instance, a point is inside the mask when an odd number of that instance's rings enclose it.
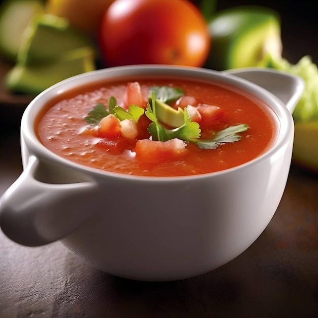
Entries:
{"label": "whole white ceramic bowl with both handles, without the soup", "polygon": [[[4,233],[27,246],[60,240],[92,266],[138,280],[189,278],[233,260],[260,236],[281,200],[292,156],[291,112],[303,82],[266,69],[230,73],[117,67],[75,76],[45,90],[23,114],[24,171],[0,202]],[[140,74],[216,80],[246,90],[276,114],[277,141],[265,154],[232,169],[156,178],[91,169],[50,152],[38,140],[35,118],[53,97],[85,83]],[[140,194],[146,194],[142,201]]]}

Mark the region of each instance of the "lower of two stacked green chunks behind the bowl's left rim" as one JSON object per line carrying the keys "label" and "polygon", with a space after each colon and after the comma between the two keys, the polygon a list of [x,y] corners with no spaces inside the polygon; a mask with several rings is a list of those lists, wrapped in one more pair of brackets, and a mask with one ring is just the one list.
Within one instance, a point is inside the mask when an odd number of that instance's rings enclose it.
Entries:
{"label": "lower of two stacked green chunks behind the bowl's left rim", "polygon": [[7,88],[13,93],[37,95],[53,84],[71,76],[95,69],[91,47],[71,50],[45,65],[16,64],[5,78]]}

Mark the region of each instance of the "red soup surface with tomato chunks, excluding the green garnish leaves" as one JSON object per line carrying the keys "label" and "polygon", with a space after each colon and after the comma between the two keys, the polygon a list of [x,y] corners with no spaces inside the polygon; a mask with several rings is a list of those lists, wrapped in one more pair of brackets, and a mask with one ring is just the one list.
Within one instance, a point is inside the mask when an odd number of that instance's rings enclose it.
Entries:
{"label": "red soup surface with tomato chunks, excluding the green garnish leaves", "polygon": [[[131,93],[128,88],[132,82],[95,83],[57,96],[39,115],[36,122],[38,138],[52,152],[76,163],[143,176],[183,176],[232,168],[264,153],[276,139],[276,117],[262,101],[236,88],[184,79],[136,79],[134,83],[139,85],[145,100],[142,108],[146,111],[149,106],[147,101],[154,102],[151,98],[148,100],[150,87],[178,88],[182,90],[183,96],[169,103],[173,109],[182,109],[185,105],[188,116],[191,112],[191,121],[197,121],[200,127],[201,141],[215,138],[217,132],[230,126],[246,124],[248,129],[236,134],[240,140],[219,142],[210,149],[199,147],[196,142],[183,141],[180,151],[169,152],[169,149],[163,150],[165,147],[157,147],[168,145],[169,142],[158,143],[157,138],[151,137],[147,130],[151,120],[145,114],[137,122],[137,137],[122,138],[123,131],[114,136],[108,136],[107,132],[103,134],[102,120],[88,122],[88,114],[97,104],[104,105],[108,110],[111,97],[115,98],[116,105],[128,109],[130,105],[127,99],[131,97],[131,101],[134,101],[134,92]],[[192,111],[187,105],[193,106]],[[169,123],[162,125],[166,129],[174,129]],[[151,142],[137,142],[138,139]],[[170,140],[169,147],[171,145],[174,147]],[[144,149],[145,153],[142,152]]]}

